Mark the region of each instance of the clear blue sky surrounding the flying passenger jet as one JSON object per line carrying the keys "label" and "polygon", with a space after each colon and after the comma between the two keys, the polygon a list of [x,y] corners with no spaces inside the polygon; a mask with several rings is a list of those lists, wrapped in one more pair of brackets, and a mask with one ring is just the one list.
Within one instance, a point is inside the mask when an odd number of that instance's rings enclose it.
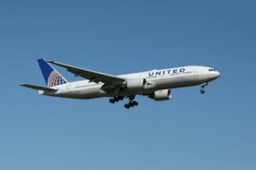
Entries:
{"label": "clear blue sky surrounding the flying passenger jet", "polygon": [[[254,170],[255,1],[1,1],[0,169]],[[36,59],[113,75],[182,65],[221,72],[205,95],[38,96]],[[57,67],[56,67],[57,68]],[[81,80],[57,68],[69,81]]]}

